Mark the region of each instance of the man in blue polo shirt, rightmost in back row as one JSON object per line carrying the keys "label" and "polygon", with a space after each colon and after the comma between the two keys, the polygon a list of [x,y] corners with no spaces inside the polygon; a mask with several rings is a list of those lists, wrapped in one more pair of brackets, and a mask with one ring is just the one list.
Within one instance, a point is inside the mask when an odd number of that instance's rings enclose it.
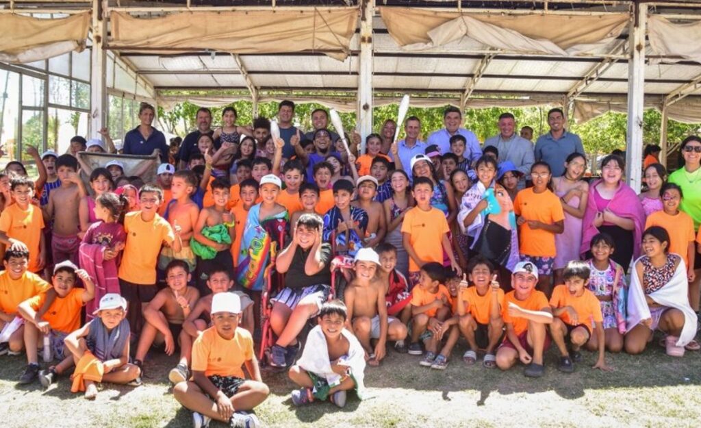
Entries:
{"label": "man in blue polo shirt, rightmost in back row", "polygon": [[554,108],[547,112],[547,124],[550,132],[540,135],[536,140],[536,161],[545,161],[550,165],[553,177],[565,173],[567,156],[573,153],[584,154],[584,145],[579,135],[565,130],[565,115],[562,109]]}

